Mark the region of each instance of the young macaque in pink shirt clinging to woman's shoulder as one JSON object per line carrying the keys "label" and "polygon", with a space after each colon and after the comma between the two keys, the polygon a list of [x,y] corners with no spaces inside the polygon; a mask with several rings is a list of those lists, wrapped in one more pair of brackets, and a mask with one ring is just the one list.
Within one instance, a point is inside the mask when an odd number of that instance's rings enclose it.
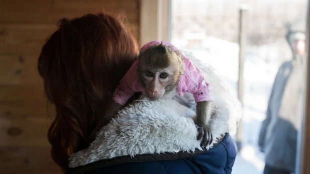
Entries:
{"label": "young macaque in pink shirt clinging to woman's shoulder", "polygon": [[141,48],[138,59],[121,79],[107,115],[112,117],[136,92],[152,101],[190,92],[196,102],[197,140],[202,138],[201,146],[206,146],[213,140],[209,126],[213,99],[209,86],[203,72],[173,45],[152,41]]}

